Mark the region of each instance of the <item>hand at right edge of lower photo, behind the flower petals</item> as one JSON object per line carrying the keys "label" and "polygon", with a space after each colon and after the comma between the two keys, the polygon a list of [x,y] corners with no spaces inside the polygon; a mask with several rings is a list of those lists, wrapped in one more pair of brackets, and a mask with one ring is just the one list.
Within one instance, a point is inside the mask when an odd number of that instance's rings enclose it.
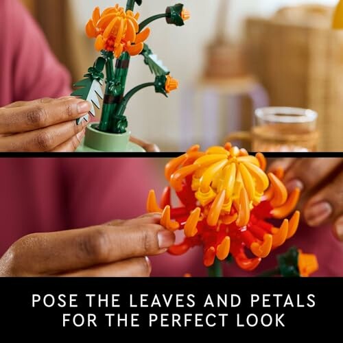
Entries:
{"label": "hand at right edge of lower photo, behind the flower petals", "polygon": [[302,190],[300,209],[307,224],[333,224],[335,237],[343,241],[343,158],[283,158],[270,169],[277,167],[285,170],[289,191]]}

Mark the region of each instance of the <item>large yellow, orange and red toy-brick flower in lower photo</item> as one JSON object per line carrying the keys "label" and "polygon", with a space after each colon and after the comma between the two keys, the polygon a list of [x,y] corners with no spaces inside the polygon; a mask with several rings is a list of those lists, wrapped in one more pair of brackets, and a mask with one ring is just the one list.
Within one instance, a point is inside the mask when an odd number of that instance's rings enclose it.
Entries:
{"label": "large yellow, orange and red toy-brick flower in lower photo", "polygon": [[[202,246],[207,267],[215,257],[222,261],[231,253],[240,268],[254,270],[272,249],[296,233],[298,211],[279,228],[268,220],[290,215],[300,191],[287,193],[280,170],[265,174],[263,154],[249,156],[229,143],[206,152],[199,149],[191,147],[166,165],[170,186],[163,193],[161,207],[150,191],[147,211],[162,213],[161,224],[169,230],[184,231],[184,241],[169,249],[172,255]],[[171,207],[171,189],[182,206]],[[249,258],[247,250],[255,257]]]}

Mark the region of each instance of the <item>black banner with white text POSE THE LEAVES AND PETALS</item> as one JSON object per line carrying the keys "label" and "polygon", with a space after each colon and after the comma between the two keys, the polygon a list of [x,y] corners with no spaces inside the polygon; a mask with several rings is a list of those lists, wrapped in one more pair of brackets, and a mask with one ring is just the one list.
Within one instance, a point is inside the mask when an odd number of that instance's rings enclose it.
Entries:
{"label": "black banner with white text POSE THE LEAVES AND PETALS", "polygon": [[343,279],[1,279],[0,288],[1,331],[32,338],[42,329],[87,337],[333,334],[342,321]]}

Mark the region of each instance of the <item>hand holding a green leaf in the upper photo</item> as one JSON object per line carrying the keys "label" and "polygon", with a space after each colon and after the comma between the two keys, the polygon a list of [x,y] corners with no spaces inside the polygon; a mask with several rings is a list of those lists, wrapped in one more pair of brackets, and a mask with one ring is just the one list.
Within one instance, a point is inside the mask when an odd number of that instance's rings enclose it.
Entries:
{"label": "hand holding a green leaf in the upper photo", "polygon": [[76,119],[91,104],[75,97],[16,102],[0,108],[0,151],[73,152],[87,125]]}

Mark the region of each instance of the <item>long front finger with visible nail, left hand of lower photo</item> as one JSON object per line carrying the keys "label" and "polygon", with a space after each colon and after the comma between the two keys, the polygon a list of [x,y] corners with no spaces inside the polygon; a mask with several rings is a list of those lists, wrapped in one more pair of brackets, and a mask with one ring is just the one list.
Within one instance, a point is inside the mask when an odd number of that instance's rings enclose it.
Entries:
{"label": "long front finger with visible nail, left hand of lower photo", "polygon": [[158,224],[95,226],[23,237],[12,246],[11,255],[14,270],[21,274],[51,275],[158,255],[174,241],[174,233]]}

